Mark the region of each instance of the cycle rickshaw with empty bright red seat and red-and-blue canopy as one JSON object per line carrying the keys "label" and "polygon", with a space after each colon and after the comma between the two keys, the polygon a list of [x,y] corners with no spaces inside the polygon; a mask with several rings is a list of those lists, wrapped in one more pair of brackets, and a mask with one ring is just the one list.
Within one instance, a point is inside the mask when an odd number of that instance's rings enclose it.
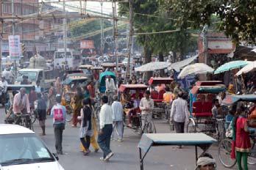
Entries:
{"label": "cycle rickshaw with empty bright red seat and red-and-blue canopy", "polygon": [[[192,103],[192,112],[186,126],[187,133],[203,132],[209,135],[218,135],[218,120],[223,117],[213,117],[213,99],[220,92],[224,92],[226,87],[221,81],[198,81],[193,86],[191,93],[196,95],[196,101]],[[193,100],[192,98],[190,100]]]}

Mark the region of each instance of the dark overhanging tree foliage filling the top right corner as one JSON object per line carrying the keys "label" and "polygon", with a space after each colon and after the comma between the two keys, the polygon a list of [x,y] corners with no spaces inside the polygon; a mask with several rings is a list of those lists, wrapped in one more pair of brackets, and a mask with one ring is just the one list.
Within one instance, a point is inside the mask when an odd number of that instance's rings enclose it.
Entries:
{"label": "dark overhanging tree foliage filling the top right corner", "polygon": [[211,25],[211,17],[216,15],[220,18],[219,31],[236,42],[256,42],[256,0],[163,0],[161,8],[178,14],[179,28]]}

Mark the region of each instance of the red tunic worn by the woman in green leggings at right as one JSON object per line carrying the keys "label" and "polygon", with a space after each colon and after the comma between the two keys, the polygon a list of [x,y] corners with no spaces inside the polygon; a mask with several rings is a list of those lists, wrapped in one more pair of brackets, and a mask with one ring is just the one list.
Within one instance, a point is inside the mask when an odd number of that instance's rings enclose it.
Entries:
{"label": "red tunic worn by the woman in green leggings at right", "polygon": [[235,149],[239,152],[249,152],[251,142],[249,132],[244,130],[246,117],[238,117],[235,127]]}

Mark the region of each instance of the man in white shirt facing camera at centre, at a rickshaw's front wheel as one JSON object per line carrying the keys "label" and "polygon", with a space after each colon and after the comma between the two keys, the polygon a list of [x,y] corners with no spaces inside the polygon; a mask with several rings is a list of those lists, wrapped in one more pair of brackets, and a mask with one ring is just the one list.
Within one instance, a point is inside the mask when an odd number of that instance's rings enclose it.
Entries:
{"label": "man in white shirt facing camera at centre, at a rickshaw's front wheel", "polygon": [[[149,90],[146,90],[145,97],[141,99],[140,109],[141,109],[141,116],[142,116],[142,129],[144,129],[145,122],[149,122],[150,125],[153,125],[152,113],[154,109],[154,101],[152,100],[152,98],[150,98]],[[152,132],[153,131],[151,127],[151,132],[149,133],[152,133]]]}

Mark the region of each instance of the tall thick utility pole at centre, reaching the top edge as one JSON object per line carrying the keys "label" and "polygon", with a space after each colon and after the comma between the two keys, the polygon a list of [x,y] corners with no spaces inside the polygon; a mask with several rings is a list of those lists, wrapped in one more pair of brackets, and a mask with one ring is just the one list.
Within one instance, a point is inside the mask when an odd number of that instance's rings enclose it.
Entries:
{"label": "tall thick utility pole at centre, reaching the top edge", "polygon": [[132,48],[132,35],[133,35],[133,0],[129,0],[129,39],[128,39],[128,62],[127,62],[127,73],[125,74],[125,82],[127,82],[129,70],[130,70],[130,60],[131,60],[131,48]]}

